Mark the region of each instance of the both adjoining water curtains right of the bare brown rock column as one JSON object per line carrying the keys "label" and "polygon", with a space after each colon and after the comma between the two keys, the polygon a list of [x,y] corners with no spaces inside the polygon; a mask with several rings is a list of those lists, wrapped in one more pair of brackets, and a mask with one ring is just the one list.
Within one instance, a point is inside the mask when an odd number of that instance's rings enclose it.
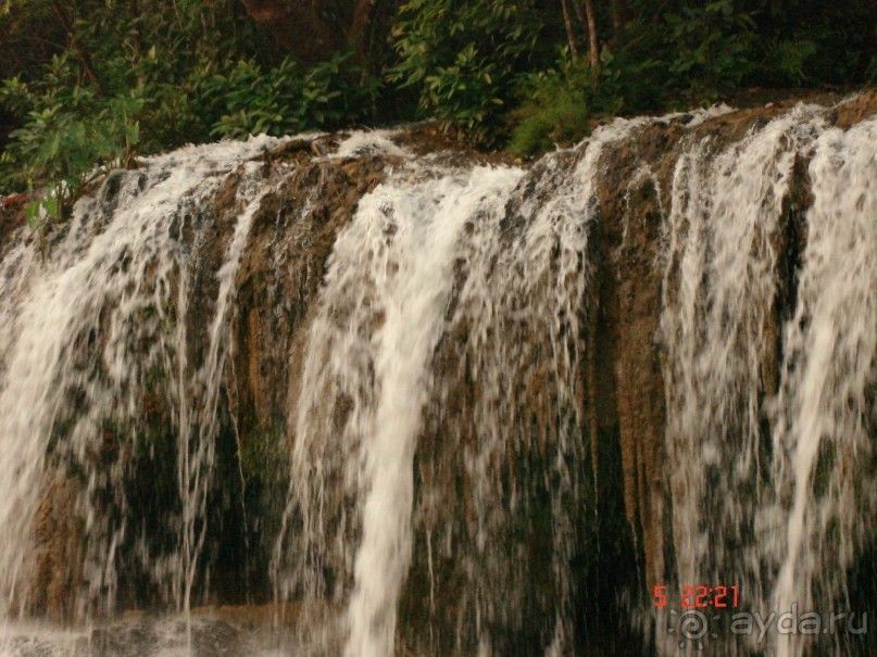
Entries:
{"label": "both adjoining water curtains right of the bare brown rock column", "polygon": [[[873,532],[863,525],[873,518],[866,395],[877,331],[869,129],[851,130],[841,156],[819,109],[799,108],[717,156],[709,141],[694,144],[674,174],[662,333],[668,457],[686,464],[671,473],[676,581],[734,582],[746,591],[743,608],[765,617],[832,608],[844,581],[837,569]],[[794,303],[778,290],[784,250],[797,247],[788,243],[789,188],[809,156],[814,201],[798,306],[781,308]],[[820,448],[831,456],[817,481]],[[836,450],[843,466],[831,463]],[[805,522],[807,509],[816,518]],[[664,639],[672,653],[678,637]],[[765,648],[752,637],[723,640],[723,654]],[[772,630],[767,640],[780,655],[804,654],[800,635]]]}

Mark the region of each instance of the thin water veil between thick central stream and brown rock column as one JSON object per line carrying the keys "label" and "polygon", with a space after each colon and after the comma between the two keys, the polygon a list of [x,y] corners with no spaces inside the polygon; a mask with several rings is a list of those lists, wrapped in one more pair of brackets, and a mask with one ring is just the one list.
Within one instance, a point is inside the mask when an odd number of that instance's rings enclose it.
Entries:
{"label": "thin water veil between thick central stream and brown rock column", "polygon": [[[599,220],[605,147],[646,124],[618,119],[597,130],[581,153],[547,157],[512,194],[505,217],[473,222],[462,254],[449,340],[463,343],[450,342],[458,351],[444,357],[455,362],[431,404],[449,408],[436,418],[434,441],[450,433],[453,447],[450,463],[436,453],[435,464],[422,466],[434,470],[438,490],[425,496],[418,520],[435,536],[437,556],[462,561],[465,586],[454,622],[474,626],[484,654],[504,654],[509,643],[523,641],[514,633],[492,635],[491,627],[523,628],[530,616],[550,628],[541,637],[550,652],[573,649],[577,516],[594,513],[582,430],[589,377],[582,339],[596,312],[589,307],[589,235]],[[471,381],[471,393],[461,390],[464,381]],[[472,434],[478,440],[467,440]],[[448,445],[434,447],[439,448]],[[454,470],[463,473],[471,500],[454,500],[437,483]],[[537,502],[543,496],[547,502]],[[462,518],[443,513],[461,505],[472,507],[460,510]],[[515,544],[518,525],[544,533],[542,554]],[[497,581],[504,582],[502,589]],[[464,635],[453,643],[464,653],[475,650]],[[441,652],[440,645],[433,649]]]}

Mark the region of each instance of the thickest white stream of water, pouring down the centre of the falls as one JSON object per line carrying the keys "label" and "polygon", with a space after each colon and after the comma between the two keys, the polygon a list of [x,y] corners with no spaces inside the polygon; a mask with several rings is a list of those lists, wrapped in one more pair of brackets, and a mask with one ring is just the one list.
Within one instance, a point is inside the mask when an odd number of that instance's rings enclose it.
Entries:
{"label": "thickest white stream of water, pouring down the centre of the falls", "polygon": [[[436,173],[444,175],[430,179]],[[363,199],[335,244],[298,403],[291,481],[303,519],[299,551],[335,570],[339,584],[353,582],[349,656],[392,650],[411,559],[415,438],[454,253],[467,220],[501,216],[521,173],[410,175]],[[344,406],[347,417],[338,418]],[[344,496],[360,501],[361,530],[356,517],[338,517],[348,513]],[[344,535],[351,531],[361,531],[355,559]]]}

